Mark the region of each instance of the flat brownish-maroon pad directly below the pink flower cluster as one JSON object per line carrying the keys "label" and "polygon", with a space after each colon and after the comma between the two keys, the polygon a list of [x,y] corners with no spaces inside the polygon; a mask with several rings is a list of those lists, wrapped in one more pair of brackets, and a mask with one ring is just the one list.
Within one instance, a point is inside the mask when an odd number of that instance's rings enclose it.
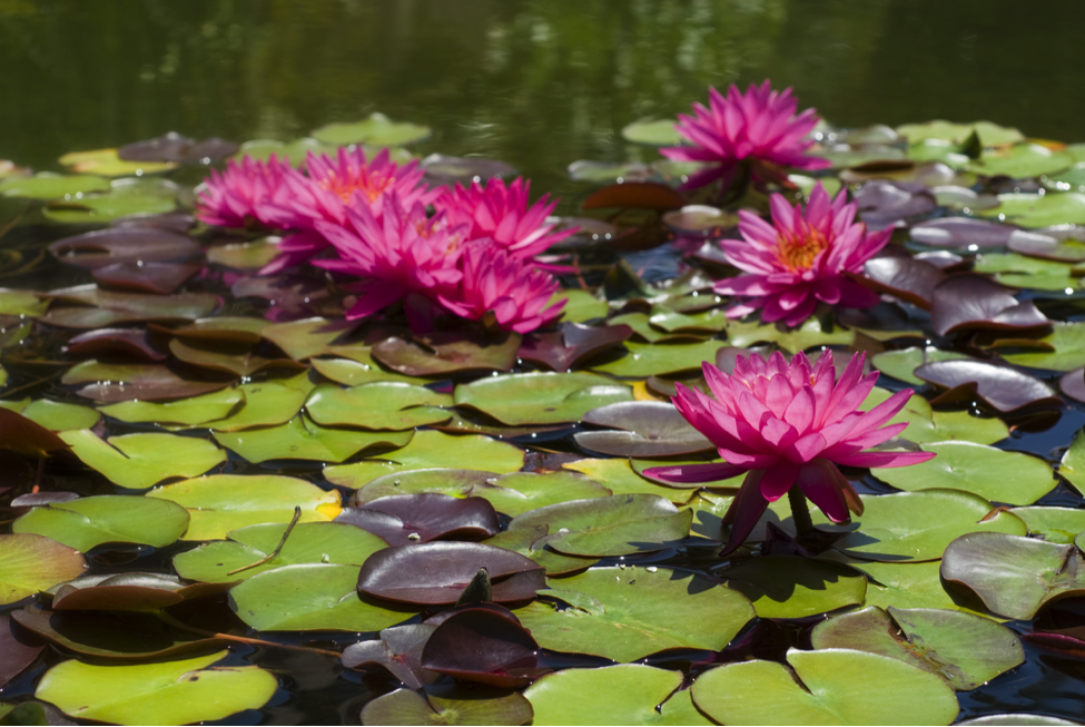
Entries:
{"label": "flat brownish-maroon pad directly below the pink flower cluster", "polygon": [[393,336],[373,346],[373,357],[407,376],[511,371],[520,334],[434,333],[406,341]]}

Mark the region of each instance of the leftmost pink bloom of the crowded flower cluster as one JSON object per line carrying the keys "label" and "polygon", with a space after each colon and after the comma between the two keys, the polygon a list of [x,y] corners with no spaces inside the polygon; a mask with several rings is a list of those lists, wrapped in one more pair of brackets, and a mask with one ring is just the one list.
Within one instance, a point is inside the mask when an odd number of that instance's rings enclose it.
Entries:
{"label": "leftmost pink bloom of the crowded flower cluster", "polygon": [[196,216],[207,225],[219,227],[246,227],[258,222],[267,227],[286,229],[276,218],[277,206],[287,195],[286,175],[294,169],[274,154],[267,161],[257,161],[245,155],[240,163],[233,159],[219,173],[210,176],[197,188]]}

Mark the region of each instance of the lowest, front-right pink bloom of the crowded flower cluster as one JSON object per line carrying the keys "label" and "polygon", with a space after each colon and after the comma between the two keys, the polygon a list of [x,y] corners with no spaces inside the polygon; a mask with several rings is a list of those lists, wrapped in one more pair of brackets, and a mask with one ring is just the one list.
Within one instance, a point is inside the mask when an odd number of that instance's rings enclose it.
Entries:
{"label": "lowest, front-right pink bloom of the crowded flower cluster", "polygon": [[489,239],[463,247],[460,269],[460,285],[438,299],[468,321],[483,321],[490,314],[504,331],[529,333],[555,320],[565,305],[564,299],[550,304],[558,282],[549,273]]}

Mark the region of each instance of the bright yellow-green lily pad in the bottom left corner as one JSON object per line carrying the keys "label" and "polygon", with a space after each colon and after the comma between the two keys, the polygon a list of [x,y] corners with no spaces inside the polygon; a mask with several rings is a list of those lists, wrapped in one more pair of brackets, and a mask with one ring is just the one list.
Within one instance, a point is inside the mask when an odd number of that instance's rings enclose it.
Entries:
{"label": "bright yellow-green lily pad in the bottom left corner", "polygon": [[278,679],[259,667],[208,668],[227,655],[116,667],[62,661],[34,696],[69,717],[116,725],[184,725],[263,707]]}

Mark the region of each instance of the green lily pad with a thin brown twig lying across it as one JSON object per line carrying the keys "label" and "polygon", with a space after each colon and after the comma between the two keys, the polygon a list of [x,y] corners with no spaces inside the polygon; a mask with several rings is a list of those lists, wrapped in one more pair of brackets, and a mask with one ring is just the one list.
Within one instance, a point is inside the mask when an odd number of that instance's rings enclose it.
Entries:
{"label": "green lily pad with a thin brown twig lying across it", "polygon": [[259,524],[233,530],[229,540],[204,543],[174,557],[177,574],[205,583],[229,583],[273,568],[302,563],[336,563],[362,567],[372,553],[387,548],[381,538],[342,522],[305,522],[296,525],[275,558],[231,573],[269,556],[283,539],[286,525]]}

